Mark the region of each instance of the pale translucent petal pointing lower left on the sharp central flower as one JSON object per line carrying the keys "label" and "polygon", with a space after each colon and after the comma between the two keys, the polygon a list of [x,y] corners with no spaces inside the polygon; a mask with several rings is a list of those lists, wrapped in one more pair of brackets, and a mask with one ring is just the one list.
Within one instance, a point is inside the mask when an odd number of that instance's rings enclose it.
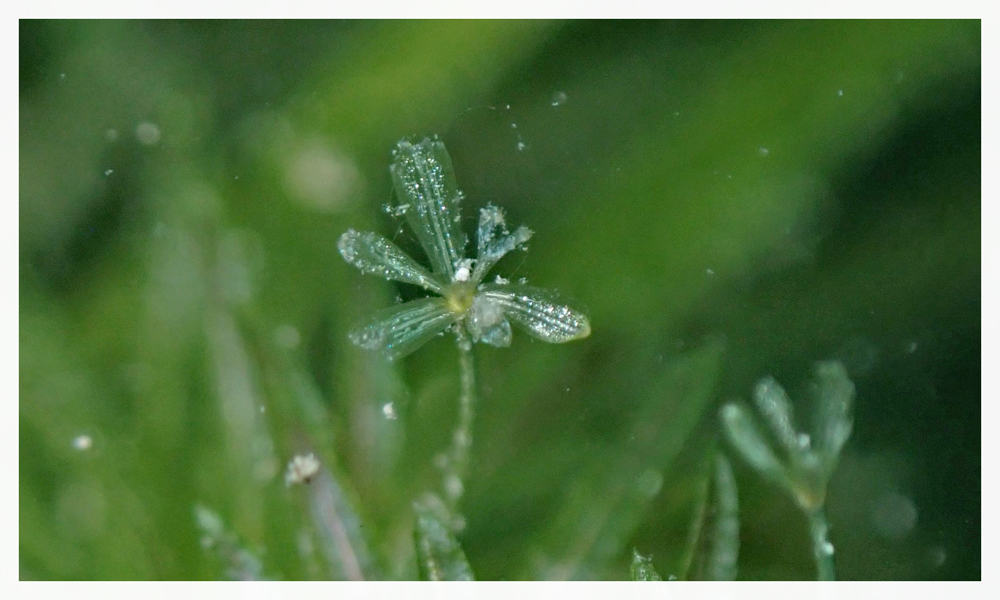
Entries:
{"label": "pale translucent petal pointing lower left on the sharp central flower", "polygon": [[377,312],[368,325],[348,337],[358,346],[394,360],[423,346],[456,319],[444,298],[423,298]]}

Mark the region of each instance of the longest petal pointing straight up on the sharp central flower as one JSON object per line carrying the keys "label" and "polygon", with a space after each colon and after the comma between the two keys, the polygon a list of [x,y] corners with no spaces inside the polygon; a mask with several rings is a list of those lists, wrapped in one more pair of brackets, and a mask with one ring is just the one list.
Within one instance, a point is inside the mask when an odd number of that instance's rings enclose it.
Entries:
{"label": "longest petal pointing straight up on the sharp central flower", "polygon": [[434,272],[450,281],[466,242],[451,157],[440,140],[424,138],[419,144],[400,141],[393,159],[389,171],[401,206],[409,204],[406,219]]}

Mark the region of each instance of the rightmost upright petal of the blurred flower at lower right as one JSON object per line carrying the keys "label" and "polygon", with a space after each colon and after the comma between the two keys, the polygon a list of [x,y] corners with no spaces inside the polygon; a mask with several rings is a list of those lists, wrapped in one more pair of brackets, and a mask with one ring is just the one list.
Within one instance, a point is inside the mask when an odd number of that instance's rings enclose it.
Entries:
{"label": "rightmost upright petal of the blurred flower at lower right", "polygon": [[816,399],[816,448],[830,472],[841,448],[851,437],[854,383],[847,376],[844,365],[837,361],[817,363],[815,372],[812,389]]}

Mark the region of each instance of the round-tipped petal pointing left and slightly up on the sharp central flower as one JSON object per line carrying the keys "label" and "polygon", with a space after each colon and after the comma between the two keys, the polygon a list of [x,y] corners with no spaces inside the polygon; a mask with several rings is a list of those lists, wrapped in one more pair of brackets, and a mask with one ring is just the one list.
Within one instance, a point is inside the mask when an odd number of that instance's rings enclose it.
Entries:
{"label": "round-tipped petal pointing left and slightly up on the sharp central flower", "polygon": [[441,293],[441,284],[427,269],[399,249],[395,244],[372,232],[348,229],[340,236],[337,249],[344,260],[369,275],[380,275],[386,279],[412,283]]}

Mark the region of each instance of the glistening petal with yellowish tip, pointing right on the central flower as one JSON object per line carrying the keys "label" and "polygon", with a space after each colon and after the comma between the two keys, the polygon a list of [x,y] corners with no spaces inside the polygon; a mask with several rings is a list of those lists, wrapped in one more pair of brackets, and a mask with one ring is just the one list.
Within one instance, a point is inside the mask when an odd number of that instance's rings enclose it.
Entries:
{"label": "glistening petal with yellowish tip, pointing right on the central flower", "polygon": [[522,284],[486,284],[482,295],[503,306],[504,314],[531,335],[561,344],[590,335],[587,317],[551,290]]}

